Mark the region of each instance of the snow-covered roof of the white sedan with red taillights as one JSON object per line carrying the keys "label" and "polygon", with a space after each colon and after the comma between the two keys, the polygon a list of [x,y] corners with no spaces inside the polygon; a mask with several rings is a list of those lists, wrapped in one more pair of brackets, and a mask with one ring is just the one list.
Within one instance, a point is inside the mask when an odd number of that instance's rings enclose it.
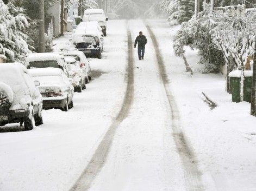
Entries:
{"label": "snow-covered roof of the white sedan with red taillights", "polygon": [[28,69],[31,76],[61,76],[63,70],[59,68],[33,68]]}

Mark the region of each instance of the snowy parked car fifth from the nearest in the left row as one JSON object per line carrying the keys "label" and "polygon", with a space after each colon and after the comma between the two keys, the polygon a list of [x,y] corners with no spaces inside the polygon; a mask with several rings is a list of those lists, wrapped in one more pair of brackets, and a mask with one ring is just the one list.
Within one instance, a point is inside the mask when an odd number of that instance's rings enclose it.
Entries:
{"label": "snowy parked car fifth from the nearest in the left row", "polygon": [[80,68],[82,69],[85,76],[85,83],[89,83],[91,80],[91,66],[90,58],[86,58],[84,53],[79,50],[64,51],[62,52],[64,56],[72,56],[79,63]]}

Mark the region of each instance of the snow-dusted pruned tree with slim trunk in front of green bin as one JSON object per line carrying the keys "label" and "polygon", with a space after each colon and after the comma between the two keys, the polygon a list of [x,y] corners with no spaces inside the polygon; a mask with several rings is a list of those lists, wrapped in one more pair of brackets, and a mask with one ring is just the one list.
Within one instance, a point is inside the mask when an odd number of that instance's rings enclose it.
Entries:
{"label": "snow-dusted pruned tree with slim trunk in front of green bin", "polygon": [[[227,12],[227,13],[226,13]],[[246,14],[245,7],[227,10],[224,14],[230,17],[231,22],[220,23],[214,29],[213,42],[222,51],[227,67],[230,65],[228,58],[232,56],[233,68],[241,70],[240,100],[243,101],[243,82],[245,80],[245,64],[249,56],[254,54],[256,35],[256,12]],[[226,16],[226,18],[229,18]],[[222,19],[225,17],[222,17]],[[224,19],[225,21],[225,19]],[[232,64],[233,64],[232,63]]]}

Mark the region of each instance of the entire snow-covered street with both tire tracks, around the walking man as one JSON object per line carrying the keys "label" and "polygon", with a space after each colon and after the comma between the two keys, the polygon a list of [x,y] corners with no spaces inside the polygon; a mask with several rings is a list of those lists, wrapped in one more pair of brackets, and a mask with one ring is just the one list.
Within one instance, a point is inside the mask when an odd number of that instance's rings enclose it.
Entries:
{"label": "entire snow-covered street with both tire tracks, around the walking man", "polygon": [[[253,135],[256,120],[246,103],[243,115],[229,101],[210,110],[199,94],[224,80],[196,64],[195,75],[184,72],[172,52],[176,30],[161,20],[110,20],[103,58],[92,59],[93,80],[73,109],[44,110],[32,131],[0,128],[9,131],[0,133],[0,190],[255,191],[255,140],[243,134]],[[143,61],[133,49],[139,31],[148,38]]]}

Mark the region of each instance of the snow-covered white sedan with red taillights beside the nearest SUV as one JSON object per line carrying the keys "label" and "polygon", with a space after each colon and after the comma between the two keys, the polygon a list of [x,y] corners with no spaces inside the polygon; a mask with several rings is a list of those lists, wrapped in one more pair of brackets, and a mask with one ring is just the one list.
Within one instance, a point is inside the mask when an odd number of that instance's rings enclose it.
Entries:
{"label": "snow-covered white sedan with red taillights beside the nearest SUV", "polygon": [[29,69],[29,74],[40,83],[43,109],[59,108],[63,111],[73,108],[73,80],[58,68]]}

